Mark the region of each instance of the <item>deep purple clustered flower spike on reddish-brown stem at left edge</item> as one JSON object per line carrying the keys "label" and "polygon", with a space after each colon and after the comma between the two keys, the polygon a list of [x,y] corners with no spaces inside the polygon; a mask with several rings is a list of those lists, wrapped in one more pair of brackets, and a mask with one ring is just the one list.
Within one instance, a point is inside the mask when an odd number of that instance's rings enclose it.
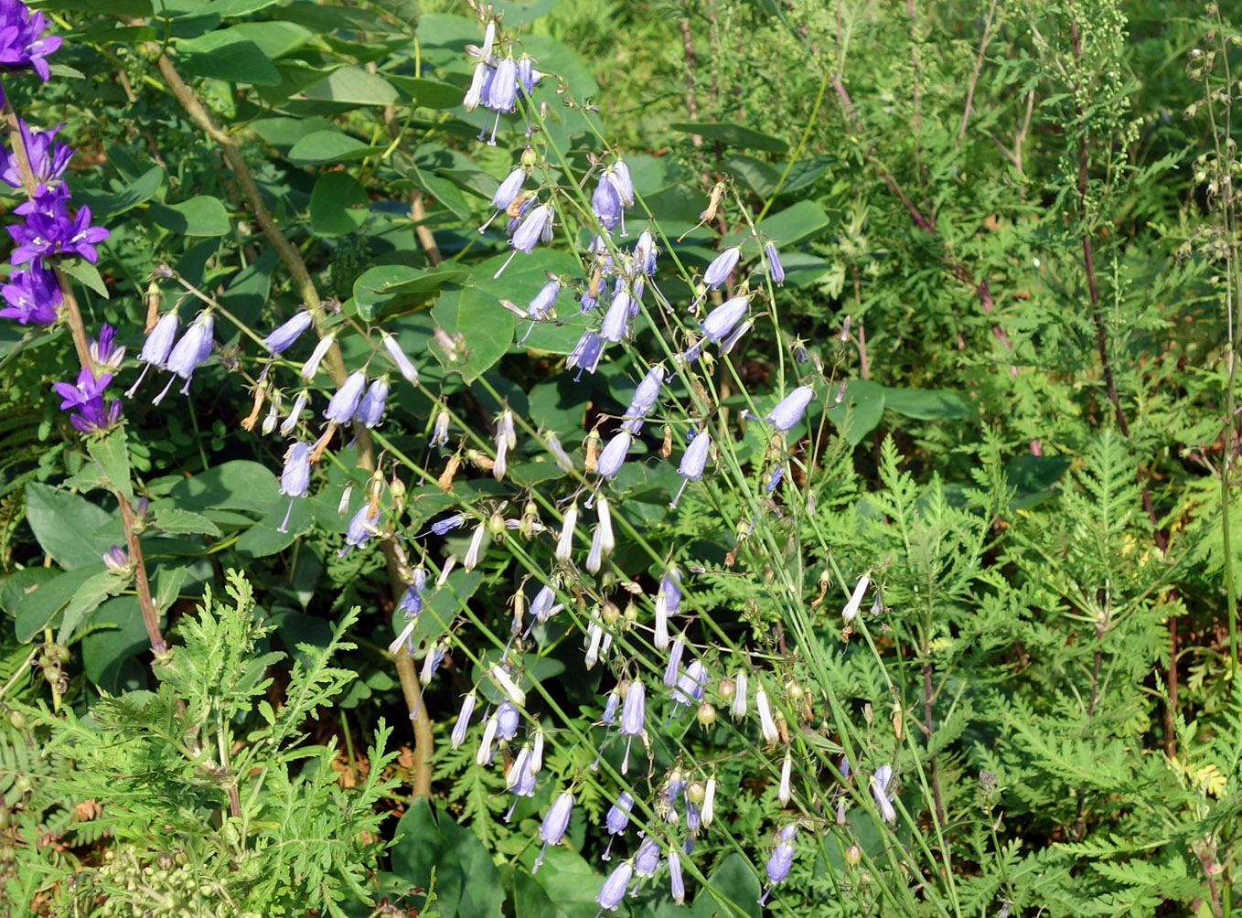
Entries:
{"label": "deep purple clustered flower spike on reddish-brown stem at left edge", "polygon": [[[43,14],[32,14],[20,0],[0,0],[0,62],[5,68],[12,72],[29,67],[47,82],[51,77],[47,55],[55,52],[62,40],[43,35]],[[51,130],[31,128],[14,111],[2,83],[0,96],[11,148],[0,180],[26,195],[26,201],[12,211],[24,221],[7,227],[16,246],[10,256],[12,270],[0,291],[6,302],[0,316],[21,324],[50,325],[62,320],[68,325],[81,369],[76,381],[57,383],[53,389],[62,399],[61,409],[71,412],[73,427],[89,442],[98,443],[120,424],[120,400],[108,398],[107,388],[124,360],[125,349],[116,347],[117,329],[107,324],[101,327],[97,339],[87,337],[73,287],[61,262],[66,257],[79,257],[93,265],[98,260],[94,245],[107,239],[108,231],[91,226],[91,209],[86,205],[71,210],[63,175],[73,150],[56,140],[60,127]],[[210,352],[210,340],[206,348]],[[123,455],[123,440],[120,442]],[[143,624],[152,651],[158,656],[166,650],[166,645],[138,539],[145,502],[139,501],[137,508],[132,503],[128,461],[109,463],[104,475],[117,478],[109,484],[120,508],[128,548],[128,564],[117,570],[120,575],[132,571]],[[108,559],[104,560],[107,563]],[[62,629],[61,642],[65,640],[67,636]]]}

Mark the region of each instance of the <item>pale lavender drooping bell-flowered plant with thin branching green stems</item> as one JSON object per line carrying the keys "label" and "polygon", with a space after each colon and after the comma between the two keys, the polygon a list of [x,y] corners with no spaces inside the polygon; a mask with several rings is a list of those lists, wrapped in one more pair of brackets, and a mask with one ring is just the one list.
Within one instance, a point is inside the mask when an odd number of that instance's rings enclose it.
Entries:
{"label": "pale lavender drooping bell-flowered plant with thin branching green stems", "polygon": [[[886,826],[897,819],[893,809],[897,780],[889,764],[891,753],[876,758],[869,752],[874,749],[874,743],[863,738],[833,696],[823,651],[797,601],[797,596],[805,593],[802,566],[771,571],[768,584],[777,598],[790,598],[787,604],[777,599],[777,605],[784,606],[782,617],[797,652],[790,652],[784,636],[779,643],[749,648],[737,634],[720,630],[713,620],[709,602],[697,595],[700,585],[693,579],[683,579],[682,571],[707,574],[703,560],[684,549],[673,558],[658,554],[627,518],[623,512],[623,478],[631,452],[640,446],[646,448],[642,442],[645,424],[660,419],[664,430],[664,457],[673,452],[679,457],[676,475],[681,486],[669,508],[676,511],[679,501],[686,499],[683,496],[688,494],[697,512],[728,512],[717,484],[702,484],[710,475],[720,476],[727,482],[725,487],[737,489],[751,507],[744,518],[737,520],[737,542],[723,547],[728,549],[727,566],[741,563],[761,570],[765,555],[780,553],[780,540],[786,538],[791,523],[817,532],[818,523],[810,497],[790,483],[785,470],[797,468],[804,479],[815,475],[814,451],[791,451],[789,443],[800,436],[796,431],[806,424],[816,395],[826,398],[836,380],[823,373],[816,359],[799,376],[799,384],[786,389],[775,405],[764,410],[755,404],[738,379],[735,364],[727,358],[756,319],[771,322],[781,385],[786,378],[786,353],[794,358],[795,366],[806,364],[805,354],[785,340],[775,308],[775,287],[784,279],[775,241],[765,239],[739,207],[746,227],[743,241],[724,246],[707,265],[702,277],[694,281],[686,272],[676,246],[650,219],[650,212],[643,216],[642,196],[623,159],[611,154],[596,157],[587,175],[581,180],[568,180],[566,176],[574,174],[573,166],[546,129],[546,114],[532,96],[544,76],[528,56],[514,57],[512,36],[499,29],[486,9],[481,10],[481,19],[483,45],[469,50],[474,65],[466,108],[482,106],[496,114],[494,119],[489,116],[489,133],[481,134],[481,139],[488,143],[496,142],[502,116],[520,108],[528,139],[522,164],[499,183],[491,200],[494,212],[479,227],[484,235],[491,234],[492,224],[501,212],[508,216],[504,230],[509,252],[494,271],[494,278],[504,278],[514,260],[529,256],[538,246],[556,245],[559,241],[570,243],[580,266],[576,276],[549,277],[525,307],[498,299],[497,316],[503,317],[504,308],[515,312],[529,322],[529,335],[537,325],[555,322],[558,298],[564,291],[574,291],[585,328],[566,360],[565,370],[574,370],[574,378],[580,379],[584,373],[595,374],[601,365],[611,361],[633,368],[635,376],[640,379],[632,390],[617,393],[621,404],[628,404],[628,407],[620,419],[607,419],[605,424],[609,426],[601,425],[589,434],[585,457],[578,460],[565,455],[554,437],[503,406],[504,400],[486,378],[477,379],[476,384],[503,407],[496,419],[493,435],[474,432],[465,417],[452,411],[442,393],[426,388],[421,381],[425,374],[420,374],[415,361],[390,334],[347,314],[328,316],[306,281],[299,282],[299,289],[307,298],[306,309],[261,335],[236,322],[211,296],[194,288],[173,271],[164,270],[159,276],[179,282],[201,301],[204,312],[175,344],[169,344],[169,325],[163,324],[166,319],[160,319],[143,348],[140,361],[148,368],[160,368],[180,376],[185,380],[185,389],[195,368],[210,353],[216,318],[235,322],[260,345],[262,355],[256,364],[257,373],[242,370],[255,391],[253,407],[245,426],[253,427],[267,404],[271,407],[262,432],[271,435],[278,426],[279,434],[286,437],[279,493],[289,498],[289,509],[282,529],[288,525],[294,502],[310,492],[314,468],[325,460],[342,462],[333,445],[345,445],[348,435],[342,434],[338,439],[345,427],[356,431],[356,440],[349,441],[349,445],[374,436],[394,465],[414,472],[417,481],[406,484],[395,475],[390,477],[381,463],[371,470],[360,463],[359,471],[369,475],[356,482],[361,503],[349,517],[340,554],[369,550],[378,543],[389,555],[390,571],[395,573],[399,585],[396,594],[401,596],[399,612],[404,619],[396,622],[397,635],[390,651],[399,661],[421,657],[420,687],[412,699],[410,692],[406,693],[407,701],[411,701],[411,719],[428,716],[421,687],[433,682],[448,648],[473,662],[478,681],[456,713],[452,745],[457,748],[468,742],[473,720],[477,724],[474,729],[481,732],[474,747],[476,763],[479,766],[505,766],[504,784],[513,795],[510,816],[522,800],[548,790],[558,793],[539,832],[544,851],[565,837],[575,784],[586,781],[605,796],[626,801],[626,822],[632,820],[641,826],[642,841],[631,857],[622,860],[604,881],[597,897],[601,911],[616,908],[626,892],[637,894],[647,881],[656,882],[664,871],[674,899],[683,901],[683,871],[699,882],[704,879],[693,852],[696,843],[713,825],[718,826],[718,832],[723,831],[725,846],[738,847],[727,829],[728,812],[722,804],[733,789],[725,795],[718,794],[717,786],[718,768],[739,758],[758,763],[758,770],[770,775],[776,789],[773,816],[776,820],[774,825],[781,826],[779,838],[770,852],[749,852],[754,863],[766,861],[768,889],[763,896],[766,901],[773,887],[785,879],[795,862],[799,825],[817,829],[814,837],[820,840],[821,853],[827,838],[833,838],[841,851],[854,848],[852,829],[845,817],[846,801],[852,800],[874,814],[879,831],[888,831]],[[179,82],[173,65],[161,57],[160,68],[183,104],[194,114],[197,103],[193,92]],[[205,116],[197,119],[204,123]],[[210,122],[204,123],[215,135],[219,129],[209,125]],[[229,155],[229,147],[221,143]],[[243,168],[231,157],[230,161],[235,169]],[[242,173],[238,171],[238,175]],[[586,189],[590,189],[589,194]],[[722,195],[713,193],[703,220],[715,219],[724,206]],[[633,245],[630,245],[626,229],[627,215],[631,225],[646,221],[633,237]],[[279,239],[274,225],[265,225],[265,231],[273,241]],[[579,242],[585,245],[579,247]],[[684,303],[671,301],[657,287],[661,250],[672,260],[677,273],[691,284],[693,296]],[[299,262],[292,261],[291,256],[287,263],[293,268]],[[294,270],[294,277],[304,275],[304,266]],[[286,352],[312,327],[320,338],[310,355],[301,361],[286,359]],[[349,366],[342,361],[338,339],[347,337],[354,345],[364,345],[366,357],[361,365]],[[640,344],[652,347],[653,352],[642,354]],[[460,337],[437,328],[433,347],[448,366],[468,363],[468,342]],[[315,381],[325,357],[332,358],[333,388],[323,391],[325,404],[319,409],[314,400]],[[391,394],[391,369],[433,404],[441,405],[435,422],[430,425],[432,436],[428,450],[450,447],[448,431],[463,431],[463,439],[448,451],[446,468],[438,476],[406,455],[383,432],[385,405]],[[718,376],[718,373],[724,375]],[[728,380],[744,399],[746,410],[739,420],[753,419],[763,431],[764,447],[758,455],[743,458],[738,451],[738,429],[727,421],[725,412],[719,407],[719,380]],[[164,398],[171,381],[155,396],[156,400]],[[286,405],[291,407],[286,409]],[[312,407],[309,417],[304,415],[308,406]],[[619,420],[620,427],[610,430],[612,420]],[[814,426],[811,429],[814,431]],[[433,520],[430,529],[410,538],[402,518],[411,487],[433,486],[448,491],[463,458],[489,472],[498,482],[504,482],[514,451],[522,447],[529,455],[523,439],[546,447],[570,478],[570,492],[554,498],[544,488],[518,487],[510,501],[497,498],[465,503],[456,512]],[[714,463],[713,452],[717,456]],[[787,491],[781,494],[777,488],[782,481]],[[579,504],[585,511],[582,517]],[[520,506],[522,513],[507,516],[510,506]],[[344,502],[342,512],[348,512]],[[556,518],[559,525],[545,525],[540,520],[542,514]],[[589,527],[589,533],[579,529],[580,523]],[[525,569],[527,578],[539,584],[540,589],[529,604],[519,589],[514,600],[513,626],[503,640],[465,604],[458,604],[457,614],[448,617],[435,609],[438,590],[452,595],[457,583],[453,569],[458,561],[455,555],[441,560],[435,547],[430,547],[424,537],[448,537],[458,529],[469,532],[460,560],[461,571],[469,573],[487,564],[489,555],[494,558],[494,549],[501,548]],[[625,553],[626,561],[619,559],[617,545],[621,540],[630,549]],[[414,558],[410,558],[411,553]],[[630,568],[632,563],[638,563],[638,566]],[[831,558],[830,564],[835,565]],[[653,601],[643,595],[638,583],[648,565],[661,571],[660,590]],[[704,583],[720,574],[723,570],[705,576]],[[835,570],[833,579],[843,583],[842,573]],[[622,588],[621,595],[617,594],[619,588]],[[856,599],[861,599],[857,593]],[[625,614],[617,604],[623,594],[628,594]],[[857,601],[852,604],[857,606]],[[653,616],[652,625],[641,624],[648,614]],[[570,629],[584,634],[585,665],[602,665],[615,682],[604,693],[604,714],[597,727],[568,717],[530,670],[530,661],[564,634],[565,625],[555,625],[558,615],[569,620]],[[481,631],[484,646],[462,640],[461,621]],[[864,630],[862,622],[857,622],[856,627]],[[677,634],[676,640],[671,640],[673,632]],[[693,640],[691,635],[694,635]],[[741,668],[737,678],[723,677],[727,671],[738,667]],[[657,688],[661,679],[652,677],[661,672],[664,673],[663,688]],[[815,688],[809,691],[805,682]],[[479,697],[487,698],[488,703],[476,712]],[[538,704],[534,703],[537,701]],[[717,703],[732,708],[734,722],[718,722]],[[700,729],[732,730],[741,750],[722,754],[712,761],[697,761],[684,739],[686,712],[689,708],[696,711]],[[821,711],[831,719],[831,729],[826,723],[816,724]],[[447,711],[431,713],[436,717],[450,714]],[[551,729],[551,725],[544,724],[545,716],[551,718],[561,735],[571,738],[569,742],[597,747],[599,776],[592,773],[542,775],[544,737]],[[612,727],[616,727],[619,737],[610,743]],[[902,735],[898,730],[898,740]],[[838,769],[836,757],[842,754],[848,768]],[[631,778],[635,771],[642,771],[633,768],[636,758],[647,759],[645,781]],[[657,776],[657,761],[668,760],[672,761],[669,770]],[[796,791],[792,781],[795,761],[799,778],[805,781],[805,789]],[[862,780],[868,774],[868,766],[874,774],[869,784]],[[910,766],[915,780],[922,783],[917,757],[912,758]],[[835,789],[835,812],[825,812],[820,805],[822,791],[818,790],[821,779],[817,774],[821,771],[831,776],[827,786]],[[862,778],[856,781],[854,775]],[[868,802],[872,800],[868,790],[873,802]],[[905,819],[910,821],[908,815]],[[607,829],[612,836],[622,834],[620,812],[610,815]],[[543,851],[538,855],[532,871],[539,867],[544,856]],[[944,894],[951,899],[951,873],[940,873],[936,866],[940,856],[923,850],[910,852],[910,857],[930,862],[929,872],[940,876],[935,883],[944,883]],[[881,882],[881,887],[891,904],[899,909],[909,907],[907,891],[889,889],[887,881]],[[714,891],[712,894],[717,896]],[[724,904],[737,908],[734,903]]]}

